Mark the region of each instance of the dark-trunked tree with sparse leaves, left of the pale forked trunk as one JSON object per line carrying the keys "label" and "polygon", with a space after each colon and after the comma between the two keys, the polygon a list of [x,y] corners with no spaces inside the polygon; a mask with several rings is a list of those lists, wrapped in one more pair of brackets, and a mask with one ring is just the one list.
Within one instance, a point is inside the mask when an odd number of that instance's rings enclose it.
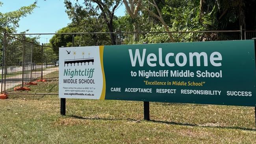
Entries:
{"label": "dark-trunked tree with sparse leaves, left of the pale forked trunk", "polygon": [[[95,17],[96,19],[103,17],[104,22],[108,26],[109,32],[114,32],[113,18],[117,7],[121,0],[84,0],[84,6],[81,6],[76,0],[72,4],[70,0],[65,0],[67,14],[72,19],[72,22],[80,22],[80,19]],[[115,35],[110,34],[111,44],[116,44]]]}

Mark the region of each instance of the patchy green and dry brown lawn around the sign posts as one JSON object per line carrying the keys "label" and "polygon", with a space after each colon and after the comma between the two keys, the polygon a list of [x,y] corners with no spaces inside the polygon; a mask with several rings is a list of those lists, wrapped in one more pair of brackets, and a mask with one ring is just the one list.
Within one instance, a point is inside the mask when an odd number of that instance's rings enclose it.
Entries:
{"label": "patchy green and dry brown lawn around the sign posts", "polygon": [[[58,93],[58,79],[29,86]],[[0,100],[0,143],[256,143],[254,107],[67,99],[10,94]]]}

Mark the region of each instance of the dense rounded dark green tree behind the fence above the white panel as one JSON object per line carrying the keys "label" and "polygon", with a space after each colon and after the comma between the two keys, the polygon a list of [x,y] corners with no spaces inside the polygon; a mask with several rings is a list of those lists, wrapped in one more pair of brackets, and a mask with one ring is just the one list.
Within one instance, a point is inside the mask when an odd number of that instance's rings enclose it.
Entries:
{"label": "dense rounded dark green tree behind the fence above the white panel", "polygon": [[[98,24],[103,20],[90,18],[80,20],[78,25],[69,24],[61,28],[57,33],[79,33],[79,32],[98,32],[107,31],[106,25]],[[70,47],[72,46],[72,35],[54,35],[50,39],[50,44],[53,47]],[[78,34],[74,35],[74,46],[97,46],[97,45],[110,45],[110,37],[107,34]],[[54,49],[55,54],[59,54],[59,49]]]}

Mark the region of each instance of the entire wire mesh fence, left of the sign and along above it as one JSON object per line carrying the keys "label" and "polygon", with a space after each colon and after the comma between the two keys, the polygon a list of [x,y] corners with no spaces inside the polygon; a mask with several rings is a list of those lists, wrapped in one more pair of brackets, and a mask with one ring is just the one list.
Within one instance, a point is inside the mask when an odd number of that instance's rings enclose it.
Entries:
{"label": "entire wire mesh fence, left of the sign and along above it", "polygon": [[[58,78],[59,47],[52,47],[49,40],[53,36],[69,41],[63,46],[110,45],[110,34],[115,35],[116,44],[163,43],[191,41],[227,41],[252,39],[256,31],[171,31],[171,32],[96,32],[96,33],[4,33],[4,46],[1,68],[1,93],[13,94],[24,90],[34,81]],[[134,42],[135,35],[139,38]],[[61,47],[61,46],[60,46]],[[19,93],[26,94],[26,93]],[[48,93],[45,93],[48,94]],[[51,93],[52,94],[52,93]]]}

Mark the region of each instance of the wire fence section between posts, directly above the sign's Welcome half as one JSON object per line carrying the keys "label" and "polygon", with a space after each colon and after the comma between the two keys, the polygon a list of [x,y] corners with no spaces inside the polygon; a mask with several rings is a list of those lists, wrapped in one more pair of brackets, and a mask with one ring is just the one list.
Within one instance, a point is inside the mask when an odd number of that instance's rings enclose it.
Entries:
{"label": "wire fence section between posts, directly above the sign's Welcome half", "polygon": [[[229,41],[241,40],[241,30],[236,31],[171,31],[171,32],[120,32],[119,44],[134,43],[163,43],[171,42],[169,38],[171,33],[175,42],[198,42],[198,41]],[[138,42],[134,42],[134,35],[137,35]]]}

